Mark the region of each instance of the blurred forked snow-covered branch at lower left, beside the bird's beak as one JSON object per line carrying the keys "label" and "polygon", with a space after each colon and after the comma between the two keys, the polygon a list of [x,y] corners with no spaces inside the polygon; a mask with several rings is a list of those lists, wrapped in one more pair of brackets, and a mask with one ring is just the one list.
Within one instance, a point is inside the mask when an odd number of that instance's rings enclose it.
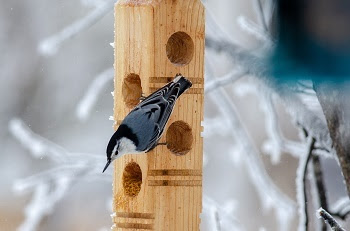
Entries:
{"label": "blurred forked snow-covered branch at lower left, beside the bird's beak", "polygon": [[[46,156],[56,164],[49,170],[16,180],[13,184],[13,190],[17,194],[33,192],[32,199],[25,208],[25,219],[18,230],[34,231],[43,218],[54,211],[54,207],[75,182],[91,180],[93,177],[96,179],[96,176],[100,179],[98,175],[102,175],[105,158],[104,155],[71,153],[35,134],[18,118],[9,122],[9,131],[33,157]],[[107,177],[104,176],[104,179]]]}

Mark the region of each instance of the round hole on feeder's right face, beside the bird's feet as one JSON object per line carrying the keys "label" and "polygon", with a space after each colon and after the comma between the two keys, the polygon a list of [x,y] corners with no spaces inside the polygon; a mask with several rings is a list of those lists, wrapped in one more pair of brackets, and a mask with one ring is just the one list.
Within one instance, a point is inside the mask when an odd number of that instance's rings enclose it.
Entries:
{"label": "round hole on feeder's right face, beside the bird's feet", "polygon": [[193,135],[191,127],[183,122],[176,121],[169,126],[166,133],[167,148],[176,155],[185,155],[192,148]]}

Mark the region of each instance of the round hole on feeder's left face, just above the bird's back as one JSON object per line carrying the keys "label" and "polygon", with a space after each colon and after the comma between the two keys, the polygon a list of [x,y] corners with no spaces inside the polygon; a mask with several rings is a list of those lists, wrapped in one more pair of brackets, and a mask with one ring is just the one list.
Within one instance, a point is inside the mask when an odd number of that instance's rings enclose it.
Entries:
{"label": "round hole on feeder's left face, just above the bird's back", "polygon": [[139,75],[131,73],[124,79],[122,94],[124,102],[129,108],[135,107],[140,102],[142,87]]}

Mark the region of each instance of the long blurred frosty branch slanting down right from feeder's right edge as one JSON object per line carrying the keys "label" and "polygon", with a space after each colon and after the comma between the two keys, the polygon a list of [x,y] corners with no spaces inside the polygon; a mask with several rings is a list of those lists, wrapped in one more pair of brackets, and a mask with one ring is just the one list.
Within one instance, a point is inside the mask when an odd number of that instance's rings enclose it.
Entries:
{"label": "long blurred frosty branch slanting down right from feeder's right edge", "polygon": [[[210,60],[207,60],[207,63],[210,63]],[[210,73],[210,71],[207,73]],[[210,77],[208,75],[207,79],[210,80]],[[277,221],[280,229],[288,229],[288,225],[294,215],[294,202],[279,190],[266,173],[258,151],[239,119],[236,107],[224,89],[220,88],[217,91],[213,91],[209,96],[220,99],[214,100],[214,102],[217,103],[217,107],[222,115],[226,116],[227,121],[229,121],[236,143],[240,144],[242,150],[245,151],[244,164],[248,169],[251,182],[259,193],[260,201],[263,203],[264,208],[274,208],[278,216]]]}

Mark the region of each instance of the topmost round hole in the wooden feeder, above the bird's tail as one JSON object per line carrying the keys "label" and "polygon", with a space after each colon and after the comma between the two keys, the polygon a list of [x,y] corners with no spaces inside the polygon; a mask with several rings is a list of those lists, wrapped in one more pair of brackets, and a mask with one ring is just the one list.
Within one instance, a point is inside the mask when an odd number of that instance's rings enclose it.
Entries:
{"label": "topmost round hole in the wooden feeder, above the bird's tail", "polygon": [[185,32],[176,32],[170,36],[166,44],[166,54],[175,65],[189,64],[193,57],[194,44]]}

